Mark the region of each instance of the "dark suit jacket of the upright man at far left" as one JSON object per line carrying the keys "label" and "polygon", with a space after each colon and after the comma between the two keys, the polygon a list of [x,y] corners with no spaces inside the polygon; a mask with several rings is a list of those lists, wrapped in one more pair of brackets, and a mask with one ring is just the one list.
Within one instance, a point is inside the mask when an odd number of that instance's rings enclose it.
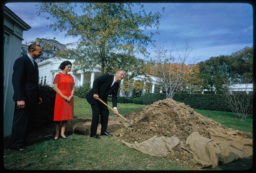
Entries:
{"label": "dark suit jacket of the upright man at far left", "polygon": [[15,102],[25,100],[26,103],[38,103],[38,66],[34,67],[28,55],[23,55],[15,60],[13,65],[13,100]]}

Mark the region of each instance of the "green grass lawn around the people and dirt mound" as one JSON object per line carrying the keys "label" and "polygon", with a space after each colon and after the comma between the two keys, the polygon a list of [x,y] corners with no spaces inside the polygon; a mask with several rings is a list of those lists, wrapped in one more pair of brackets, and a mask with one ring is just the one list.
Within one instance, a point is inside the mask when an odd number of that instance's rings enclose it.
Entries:
{"label": "green grass lawn around the people and dirt mound", "polygon": [[[84,98],[74,97],[75,118],[91,117],[91,106]],[[109,103],[112,106],[111,103]],[[146,105],[117,104],[121,115],[142,110]],[[195,110],[203,116],[243,132],[252,132],[252,116],[240,120],[233,113]],[[111,111],[110,111],[111,112]],[[112,115],[112,114],[110,114]],[[114,115],[114,114],[113,114]],[[25,151],[14,151],[4,146],[4,168],[7,170],[189,170],[171,162],[144,154],[123,145],[118,137],[101,136],[101,139],[88,135],[68,135],[67,139],[53,140],[54,134],[36,132],[29,135]],[[6,139],[4,139],[6,142]],[[237,171],[252,168],[252,156],[235,162],[206,168],[204,171]]]}

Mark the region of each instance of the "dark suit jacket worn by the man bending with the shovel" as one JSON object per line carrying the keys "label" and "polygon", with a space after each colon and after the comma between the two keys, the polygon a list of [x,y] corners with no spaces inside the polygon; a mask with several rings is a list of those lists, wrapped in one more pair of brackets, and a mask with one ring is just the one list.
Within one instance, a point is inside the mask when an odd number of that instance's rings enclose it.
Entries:
{"label": "dark suit jacket worn by the man bending with the shovel", "polygon": [[101,100],[107,102],[108,95],[112,95],[112,104],[113,107],[117,107],[117,92],[119,90],[119,82],[115,82],[112,85],[114,80],[113,75],[104,74],[93,81],[93,88],[86,95],[87,102],[89,104],[96,103],[96,99],[93,97],[94,94],[97,94]]}

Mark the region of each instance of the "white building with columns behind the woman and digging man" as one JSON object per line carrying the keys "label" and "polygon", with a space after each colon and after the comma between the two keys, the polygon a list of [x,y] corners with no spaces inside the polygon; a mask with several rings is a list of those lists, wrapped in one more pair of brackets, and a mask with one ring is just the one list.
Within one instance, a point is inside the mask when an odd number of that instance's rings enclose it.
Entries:
{"label": "white building with columns behind the woman and digging man", "polygon": [[[47,84],[53,87],[53,80],[54,77],[61,72],[61,70],[59,69],[59,65],[61,64],[61,62],[65,61],[67,59],[53,59],[53,58],[49,58],[45,61],[39,62],[38,63],[38,69],[39,69],[39,83],[41,84]],[[70,59],[69,60],[71,63],[74,62],[74,59]],[[84,74],[82,73],[82,71],[78,71],[78,74],[74,75],[72,73],[72,69],[70,71],[70,75],[73,76],[74,78],[74,82],[75,82],[75,86],[82,86],[85,82],[90,82],[91,83],[91,87],[93,87],[93,81],[99,77],[101,75],[101,71],[99,67],[94,67],[93,68],[93,72],[91,74]],[[114,75],[114,74],[113,74]],[[144,90],[144,93],[154,93],[154,88],[156,85],[156,78],[154,76],[150,76],[151,77],[151,82],[149,84],[149,89]],[[137,76],[135,78],[133,78],[134,80],[144,80],[144,76]],[[122,81],[121,81],[122,84]],[[124,93],[119,90],[119,96],[124,96]]]}

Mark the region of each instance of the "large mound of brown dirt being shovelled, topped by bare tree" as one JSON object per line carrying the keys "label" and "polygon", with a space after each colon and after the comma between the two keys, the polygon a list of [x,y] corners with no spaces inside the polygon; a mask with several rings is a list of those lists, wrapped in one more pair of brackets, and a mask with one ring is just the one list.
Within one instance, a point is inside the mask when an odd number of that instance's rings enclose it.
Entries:
{"label": "large mound of brown dirt being shovelled, topped by bare tree", "polygon": [[[173,99],[164,99],[146,106],[142,111],[135,111],[125,115],[133,127],[122,128],[113,132],[115,137],[120,137],[130,144],[141,143],[154,136],[177,137],[181,145],[186,143],[187,137],[193,132],[198,132],[202,137],[210,138],[208,128],[222,127],[211,118],[204,117],[184,103]],[[192,155],[180,146],[176,146],[172,162],[180,164],[190,170],[200,169],[198,165],[189,163]]]}

